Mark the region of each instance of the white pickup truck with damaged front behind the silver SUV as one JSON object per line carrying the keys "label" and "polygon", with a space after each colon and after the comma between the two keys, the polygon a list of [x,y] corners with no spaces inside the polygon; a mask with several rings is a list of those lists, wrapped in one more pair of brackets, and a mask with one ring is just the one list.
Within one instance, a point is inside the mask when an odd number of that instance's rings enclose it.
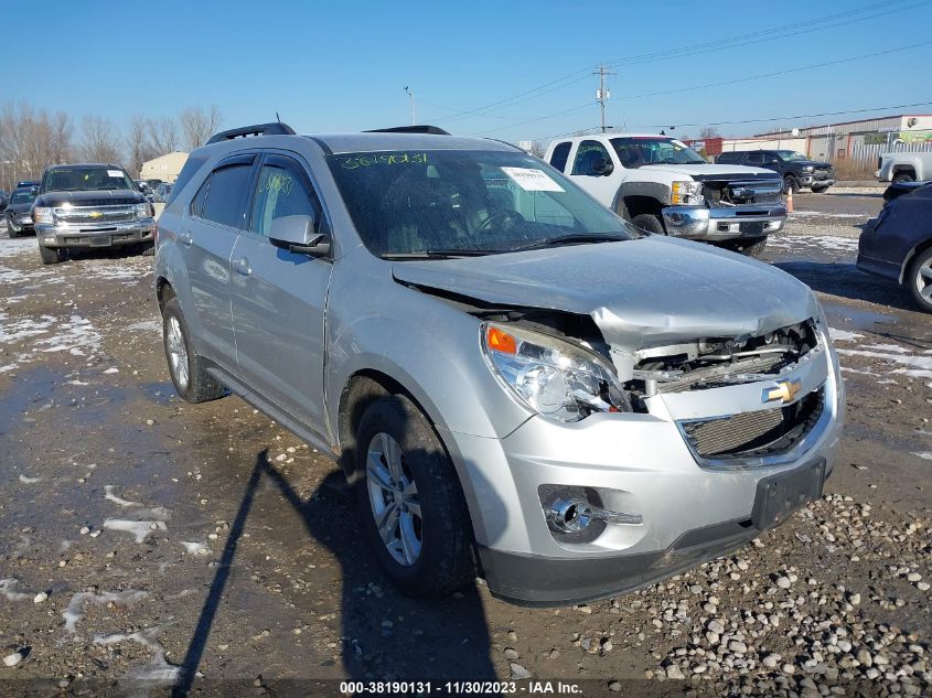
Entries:
{"label": "white pickup truck with damaged front behind the silver SUV", "polygon": [[634,225],[759,256],[783,228],[783,182],[771,170],[708,163],[668,136],[598,133],[555,140],[544,158]]}

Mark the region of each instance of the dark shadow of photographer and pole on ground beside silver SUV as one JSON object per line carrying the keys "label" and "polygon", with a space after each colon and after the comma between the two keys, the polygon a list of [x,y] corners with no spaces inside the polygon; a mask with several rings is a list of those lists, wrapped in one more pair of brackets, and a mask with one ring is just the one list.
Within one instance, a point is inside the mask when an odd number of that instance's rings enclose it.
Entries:
{"label": "dark shadow of photographer and pole on ground beside silver SUV", "polygon": [[[408,454],[406,453],[406,457]],[[257,491],[271,483],[300,517],[304,535],[326,546],[341,569],[342,664],[347,680],[494,680],[489,635],[478,582],[447,598],[419,599],[401,594],[382,573],[366,543],[355,491],[343,472],[334,470],[308,498],[269,461],[267,451],[255,460],[246,490],[229,528],[200,616],[189,642],[173,696],[204,688],[196,678],[231,577],[236,549]],[[365,522],[368,523],[367,520]],[[296,536],[294,545],[300,545]],[[257,619],[258,622],[258,619]],[[264,688],[276,690],[275,679]],[[294,680],[279,691],[300,692]],[[335,690],[335,689],[334,689]]]}

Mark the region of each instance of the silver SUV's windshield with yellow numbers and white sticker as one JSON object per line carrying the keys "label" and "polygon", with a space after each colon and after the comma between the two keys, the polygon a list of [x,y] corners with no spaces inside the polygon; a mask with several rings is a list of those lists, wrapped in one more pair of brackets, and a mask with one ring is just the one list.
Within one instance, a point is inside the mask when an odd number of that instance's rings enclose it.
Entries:
{"label": "silver SUV's windshield with yellow numbers and white sticker", "polygon": [[499,151],[357,152],[329,157],[375,255],[506,253],[638,233],[556,170]]}

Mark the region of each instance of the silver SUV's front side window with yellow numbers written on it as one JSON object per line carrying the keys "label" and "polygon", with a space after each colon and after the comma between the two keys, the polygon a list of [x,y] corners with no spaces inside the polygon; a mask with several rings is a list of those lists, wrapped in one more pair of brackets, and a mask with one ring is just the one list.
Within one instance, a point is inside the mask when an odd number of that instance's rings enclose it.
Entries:
{"label": "silver SUV's front side window with yellow numbers written on it", "polygon": [[268,237],[276,218],[298,215],[320,218],[320,205],[308,191],[301,165],[287,158],[269,158],[259,172],[249,229]]}

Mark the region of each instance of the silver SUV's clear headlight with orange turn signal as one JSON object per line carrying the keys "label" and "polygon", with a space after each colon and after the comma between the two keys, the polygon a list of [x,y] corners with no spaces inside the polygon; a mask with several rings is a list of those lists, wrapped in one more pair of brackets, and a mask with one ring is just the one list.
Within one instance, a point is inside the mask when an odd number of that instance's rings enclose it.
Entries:
{"label": "silver SUV's clear headlight with orange turn signal", "polygon": [[482,325],[493,373],[531,409],[555,421],[631,409],[624,389],[598,355],[536,332]]}

